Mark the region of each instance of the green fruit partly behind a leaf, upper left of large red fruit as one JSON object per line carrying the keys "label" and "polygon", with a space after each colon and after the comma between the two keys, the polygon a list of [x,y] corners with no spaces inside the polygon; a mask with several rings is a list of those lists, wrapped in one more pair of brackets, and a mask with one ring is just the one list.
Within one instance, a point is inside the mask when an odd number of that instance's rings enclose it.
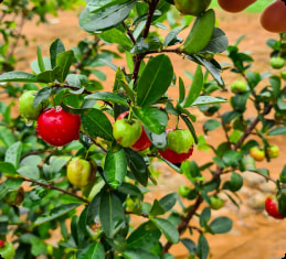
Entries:
{"label": "green fruit partly behind a leaf, upper left of large red fruit", "polygon": [[40,104],[36,108],[33,106],[36,90],[28,90],[19,98],[19,111],[28,120],[36,120],[42,110],[46,107]]}

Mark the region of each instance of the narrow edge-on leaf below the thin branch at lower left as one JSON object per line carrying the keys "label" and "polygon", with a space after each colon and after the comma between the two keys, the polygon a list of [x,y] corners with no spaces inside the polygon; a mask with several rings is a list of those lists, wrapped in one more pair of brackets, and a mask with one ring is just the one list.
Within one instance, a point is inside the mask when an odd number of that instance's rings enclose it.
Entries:
{"label": "narrow edge-on leaf below the thin branch at lower left", "polygon": [[62,204],[57,207],[54,207],[53,209],[51,209],[50,212],[47,212],[45,215],[40,216],[35,219],[35,222],[32,224],[33,227],[42,225],[44,223],[51,222],[57,217],[61,217],[63,215],[65,215],[66,213],[72,212],[73,209],[75,209],[76,207],[78,207],[81,204],[76,203],[76,204]]}

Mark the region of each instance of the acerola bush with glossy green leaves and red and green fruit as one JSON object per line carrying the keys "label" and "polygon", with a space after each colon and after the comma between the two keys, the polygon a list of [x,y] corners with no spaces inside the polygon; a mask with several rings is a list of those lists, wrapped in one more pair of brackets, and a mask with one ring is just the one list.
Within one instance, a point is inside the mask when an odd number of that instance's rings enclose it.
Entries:
{"label": "acerola bush with glossy green leaves and red and green fruit", "polygon": [[[239,206],[234,196],[246,170],[276,184],[275,217],[284,218],[286,166],[274,180],[269,170],[258,166],[253,152],[259,147],[271,161],[277,152],[269,136],[286,133],[282,74],[252,71],[252,56],[239,48],[242,37],[229,46],[212,9],[200,11],[195,20],[186,15],[173,23],[171,0],[86,2],[80,25],[94,40],[65,50],[57,39],[47,57],[38,47],[33,73],[0,75],[7,85],[23,83],[13,93],[17,97],[24,89],[36,90],[35,111],[46,106],[36,122],[27,125],[21,116],[11,118],[10,106],[0,102],[0,238],[13,241],[15,258],[170,259],[174,258],[170,248],[181,242],[190,258],[205,259],[208,235],[232,228],[229,217],[213,218],[211,211],[223,206],[223,193]],[[165,37],[161,28],[168,30]],[[189,33],[181,39],[184,29]],[[285,60],[286,36],[282,33],[278,39],[267,41],[269,56]],[[127,67],[112,63],[118,53],[107,51],[106,44],[118,46]],[[227,67],[215,60],[222,52],[230,60]],[[197,65],[190,88],[177,78],[171,54]],[[109,91],[100,83],[103,65],[115,71]],[[244,80],[243,90],[225,86],[223,68]],[[98,80],[89,78],[92,74]],[[178,87],[177,100],[168,96],[170,86]],[[230,90],[229,100],[220,97],[222,89]],[[250,106],[256,111],[253,119],[245,116]],[[211,117],[203,123],[204,134],[221,130],[225,136],[219,145],[197,134],[195,108]],[[121,118],[125,111],[128,116]],[[177,119],[171,130],[170,117]],[[142,132],[151,144],[136,150],[133,147]],[[191,160],[195,145],[211,150],[212,160],[203,164]],[[177,193],[147,202],[145,194],[159,177],[151,170],[158,160],[188,179],[179,194],[190,206],[174,208]],[[12,203],[3,198],[11,192]],[[139,226],[131,226],[134,216],[142,218]],[[193,226],[197,217],[198,226]],[[46,240],[56,228],[61,240],[52,247]],[[181,238],[188,229],[190,236]],[[199,233],[198,240],[193,231]]]}

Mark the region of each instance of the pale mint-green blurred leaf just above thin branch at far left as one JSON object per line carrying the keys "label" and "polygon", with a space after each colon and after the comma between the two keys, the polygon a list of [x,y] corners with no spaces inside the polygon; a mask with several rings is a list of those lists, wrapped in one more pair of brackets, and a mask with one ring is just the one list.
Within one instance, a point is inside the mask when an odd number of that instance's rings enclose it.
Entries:
{"label": "pale mint-green blurred leaf just above thin branch at far left", "polygon": [[38,165],[42,162],[39,155],[29,155],[24,158],[17,172],[29,179],[40,180],[40,170]]}

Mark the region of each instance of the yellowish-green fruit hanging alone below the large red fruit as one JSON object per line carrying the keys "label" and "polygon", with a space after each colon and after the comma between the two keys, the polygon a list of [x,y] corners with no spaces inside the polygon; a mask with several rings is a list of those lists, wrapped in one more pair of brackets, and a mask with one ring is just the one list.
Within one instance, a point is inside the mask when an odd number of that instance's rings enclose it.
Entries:
{"label": "yellowish-green fruit hanging alone below the large red fruit", "polygon": [[66,169],[66,176],[68,181],[76,187],[85,187],[94,180],[94,172],[96,172],[96,164],[92,164],[80,158],[72,159]]}

